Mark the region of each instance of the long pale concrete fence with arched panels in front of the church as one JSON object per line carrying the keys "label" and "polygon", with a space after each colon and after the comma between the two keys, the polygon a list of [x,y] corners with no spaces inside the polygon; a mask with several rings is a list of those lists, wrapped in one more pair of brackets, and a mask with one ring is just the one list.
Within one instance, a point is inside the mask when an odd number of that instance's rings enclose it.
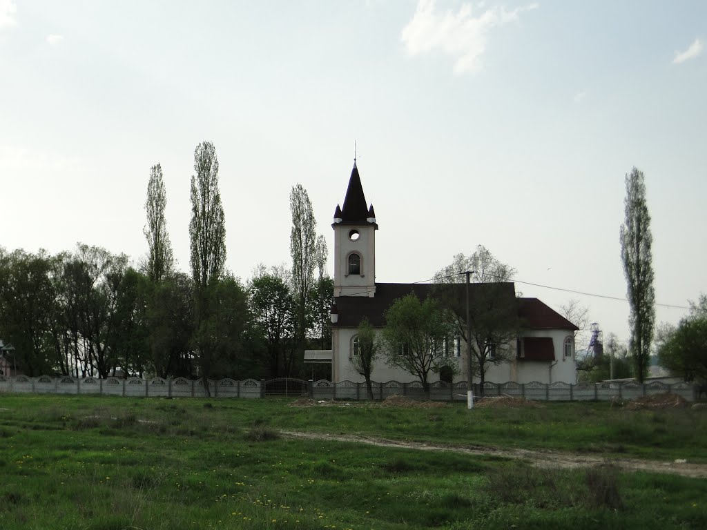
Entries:
{"label": "long pale concrete fence with arched panels in front of the church", "polygon": [[[474,384],[474,395],[479,395],[479,384]],[[303,379],[209,379],[209,391],[216,398],[264,398],[267,396],[305,396],[311,399],[342,399],[358,401],[367,398],[366,383],[354,381],[331,382],[304,381]],[[18,375],[7,377],[0,375],[0,393],[17,394],[101,394],[103,396],[129,397],[204,397],[203,379],[140,379],[129,377],[27,377]],[[679,394],[688,401],[698,397],[698,387],[688,383],[667,384],[650,382],[638,384],[635,381],[578,383],[540,382],[484,383],[486,396],[514,396],[537,401],[609,401],[612,399],[635,399],[650,394],[671,392]],[[419,381],[402,383],[388,381],[373,383],[373,397],[386,399],[400,395],[411,399],[425,399],[425,392]],[[467,382],[430,384],[430,398],[436,401],[465,401]]]}

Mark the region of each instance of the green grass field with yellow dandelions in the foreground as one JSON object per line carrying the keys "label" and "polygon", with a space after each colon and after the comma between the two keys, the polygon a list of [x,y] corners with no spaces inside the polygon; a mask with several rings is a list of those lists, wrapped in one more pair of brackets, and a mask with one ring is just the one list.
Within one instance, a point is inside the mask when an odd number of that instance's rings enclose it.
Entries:
{"label": "green grass field with yellow dandelions in the foreground", "polygon": [[707,413],[0,396],[0,528],[707,528],[707,480],[281,431],[707,463]]}

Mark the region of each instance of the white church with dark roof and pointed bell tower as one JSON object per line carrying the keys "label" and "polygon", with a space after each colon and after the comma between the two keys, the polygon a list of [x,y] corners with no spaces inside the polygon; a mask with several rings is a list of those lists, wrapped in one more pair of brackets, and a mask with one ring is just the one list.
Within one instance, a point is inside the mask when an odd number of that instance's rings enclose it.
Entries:
{"label": "white church with dark roof and pointed bell tower", "polygon": [[[439,293],[435,284],[377,283],[375,281],[375,232],[378,223],[373,204],[366,202],[356,160],[351,170],[344,205],[334,211],[334,304],[332,305],[332,349],[305,352],[305,363],[331,364],[332,381],[363,382],[351,363],[356,352],[356,334],[361,319],[366,317],[374,329],[385,326],[385,312],[395,300],[415,293],[420,300]],[[457,284],[463,287],[463,284]],[[574,324],[537,298],[516,298],[512,282],[472,283],[472,297],[493,286],[494,293],[506,298],[508,307],[517,313],[522,328],[513,351],[506,361],[489,365],[485,380],[494,383],[515,381],[529,383],[576,382],[574,359]],[[453,382],[467,379],[466,343],[459,337],[450,339],[445,355],[454,358],[456,375]],[[411,382],[415,377],[385,364],[379,358],[372,374],[375,382]],[[436,379],[434,379],[436,380]],[[448,382],[452,382],[448,381]],[[434,381],[430,381],[434,382]],[[474,382],[479,382],[474,377]]]}

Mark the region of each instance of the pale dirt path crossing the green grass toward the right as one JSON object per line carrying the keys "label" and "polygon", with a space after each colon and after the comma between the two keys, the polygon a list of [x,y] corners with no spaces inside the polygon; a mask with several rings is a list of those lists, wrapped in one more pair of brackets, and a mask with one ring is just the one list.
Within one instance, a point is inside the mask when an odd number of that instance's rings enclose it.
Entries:
{"label": "pale dirt path crossing the green grass toward the right", "polygon": [[460,454],[473,454],[483,457],[503,457],[530,462],[533,466],[542,468],[578,469],[598,466],[600,464],[614,464],[624,471],[650,471],[652,473],[672,473],[674,475],[691,478],[707,478],[707,464],[691,464],[687,461],[661,462],[655,460],[639,459],[609,459],[586,454],[566,453],[557,451],[543,451],[540,449],[496,449],[494,447],[458,447],[423,444],[419,442],[398,442],[382,438],[365,436],[329,435],[319,432],[294,432],[280,431],[281,435],[291,438],[304,438],[307,440],[330,440],[334,442],[355,442],[360,444],[377,445],[380,447],[399,447],[401,449],[417,449],[419,451],[448,451]]}

